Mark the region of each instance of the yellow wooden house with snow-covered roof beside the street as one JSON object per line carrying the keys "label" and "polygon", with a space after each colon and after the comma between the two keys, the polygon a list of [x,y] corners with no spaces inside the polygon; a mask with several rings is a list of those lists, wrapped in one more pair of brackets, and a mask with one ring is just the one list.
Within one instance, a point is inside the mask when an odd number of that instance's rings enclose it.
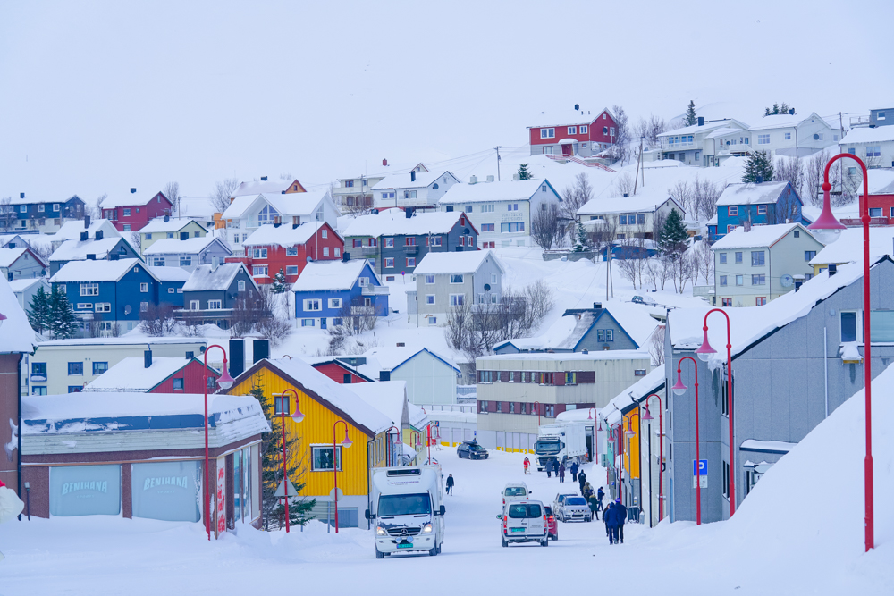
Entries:
{"label": "yellow wooden house with snow-covered roof beside the street", "polygon": [[[258,361],[235,379],[228,393],[249,395],[255,387],[263,391],[268,403],[274,404],[276,416],[281,416],[284,407],[285,430],[299,439],[298,451],[287,457],[291,464],[299,466],[300,482],[305,484],[300,495],[316,499],[313,513],[317,519],[334,516],[331,495],[335,486],[335,444],[338,488],[342,491],[338,502],[339,525],[358,526],[369,507],[369,470],[387,465],[386,435],[395,422],[348,387],[297,358]],[[288,389],[298,394],[298,407],[304,415],[300,423],[291,419],[296,404],[291,392],[284,394]],[[339,420],[345,424],[333,429]],[[341,446],[346,425],[352,443],[347,449]]]}

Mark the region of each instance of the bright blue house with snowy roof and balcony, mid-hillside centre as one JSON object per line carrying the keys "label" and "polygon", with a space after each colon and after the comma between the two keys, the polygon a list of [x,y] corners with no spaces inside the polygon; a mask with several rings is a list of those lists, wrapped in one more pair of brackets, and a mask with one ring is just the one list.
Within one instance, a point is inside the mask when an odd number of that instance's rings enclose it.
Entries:
{"label": "bright blue house with snowy roof and balcony, mid-hillside centre", "polygon": [[354,326],[365,315],[388,315],[388,288],[382,285],[368,261],[308,263],[292,285],[295,292],[295,316],[302,327],[326,329],[344,324],[345,317]]}

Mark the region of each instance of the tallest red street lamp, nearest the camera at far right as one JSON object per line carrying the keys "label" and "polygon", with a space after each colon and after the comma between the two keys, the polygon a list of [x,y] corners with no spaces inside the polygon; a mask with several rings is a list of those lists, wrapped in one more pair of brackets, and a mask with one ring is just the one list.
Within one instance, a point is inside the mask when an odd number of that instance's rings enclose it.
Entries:
{"label": "tallest red street lamp, nearest the camera at far right", "polygon": [[866,172],[866,164],[863,163],[856,155],[849,153],[839,153],[829,160],[826,164],[826,171],[822,180],[822,214],[815,222],[807,226],[807,229],[813,231],[823,244],[830,244],[839,239],[841,230],[844,226],[835,219],[832,214],[831,203],[829,200],[829,191],[831,184],[829,183],[829,169],[831,165],[839,159],[849,157],[860,164],[863,169],[863,199],[860,201],[860,221],[863,222],[863,337],[865,362],[863,371],[865,375],[865,400],[866,400],[866,457],[864,459],[864,498],[865,498],[865,540],[866,550],[875,548],[875,514],[873,504],[873,358],[872,358],[872,310],[869,304],[869,173]]}

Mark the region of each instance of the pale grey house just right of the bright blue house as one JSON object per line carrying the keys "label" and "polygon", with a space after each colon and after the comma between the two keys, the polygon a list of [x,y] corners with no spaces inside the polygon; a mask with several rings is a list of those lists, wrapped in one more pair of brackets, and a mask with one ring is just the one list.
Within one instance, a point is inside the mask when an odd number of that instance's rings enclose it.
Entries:
{"label": "pale grey house just right of the bright blue house", "polygon": [[416,290],[407,292],[410,320],[416,326],[443,325],[451,308],[472,313],[496,311],[506,273],[490,250],[429,253],[416,268]]}

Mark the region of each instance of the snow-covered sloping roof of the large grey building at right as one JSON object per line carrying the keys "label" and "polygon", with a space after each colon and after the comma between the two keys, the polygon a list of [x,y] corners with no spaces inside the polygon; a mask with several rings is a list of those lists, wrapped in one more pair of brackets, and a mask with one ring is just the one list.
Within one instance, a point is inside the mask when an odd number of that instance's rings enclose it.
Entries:
{"label": "snow-covered sloping roof of the large grey building at right", "polygon": [[[891,264],[889,256],[883,256],[872,266],[884,263]],[[829,276],[823,272],[813,279],[805,281],[800,289],[789,291],[764,306],[749,308],[724,308],[730,315],[730,335],[732,353],[735,356],[757,340],[760,340],[775,329],[796,321],[810,313],[817,302],[829,298],[839,289],[854,283],[863,277],[863,264],[849,263],[838,267],[838,273]],[[702,343],[702,325],[704,315],[710,306],[692,308],[674,308],[668,314],[668,325],[671,330],[671,345],[676,349],[696,349]],[[709,323],[711,323],[709,321]],[[708,340],[717,354],[714,359],[725,360],[727,343],[726,325],[722,317],[709,324]]]}

